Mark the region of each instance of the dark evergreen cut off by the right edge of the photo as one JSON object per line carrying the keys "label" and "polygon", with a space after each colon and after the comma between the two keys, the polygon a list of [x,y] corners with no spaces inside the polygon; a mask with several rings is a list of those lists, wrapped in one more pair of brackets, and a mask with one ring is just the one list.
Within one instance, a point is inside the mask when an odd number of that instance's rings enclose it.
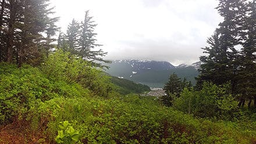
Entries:
{"label": "dark evergreen cut off by the right edge of the photo", "polygon": [[240,56],[240,69],[238,75],[238,89],[241,93],[239,106],[249,100],[248,107],[254,99],[256,107],[256,1],[250,1],[246,5],[247,15],[243,23],[242,48]]}

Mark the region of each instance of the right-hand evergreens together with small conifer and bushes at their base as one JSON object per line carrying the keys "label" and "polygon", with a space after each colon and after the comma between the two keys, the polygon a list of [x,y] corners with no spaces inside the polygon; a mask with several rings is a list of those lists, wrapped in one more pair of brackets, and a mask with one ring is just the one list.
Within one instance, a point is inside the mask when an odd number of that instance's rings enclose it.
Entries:
{"label": "right-hand evergreens together with small conifer and bushes at their base", "polygon": [[[197,84],[192,88],[172,74],[161,101],[198,117],[254,120],[256,1],[219,0],[216,9],[224,20],[208,38],[209,46],[203,48],[207,55],[200,57]],[[248,109],[239,109],[246,101]]]}

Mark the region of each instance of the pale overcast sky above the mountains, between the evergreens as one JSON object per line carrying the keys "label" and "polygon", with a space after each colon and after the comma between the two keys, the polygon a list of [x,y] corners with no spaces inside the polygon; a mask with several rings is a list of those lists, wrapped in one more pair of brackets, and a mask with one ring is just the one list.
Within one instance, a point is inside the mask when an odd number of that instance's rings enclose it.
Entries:
{"label": "pale overcast sky above the mountains, between the evergreens", "polygon": [[86,10],[98,26],[106,59],[193,63],[221,22],[216,0],[51,0],[59,26],[83,20]]}

